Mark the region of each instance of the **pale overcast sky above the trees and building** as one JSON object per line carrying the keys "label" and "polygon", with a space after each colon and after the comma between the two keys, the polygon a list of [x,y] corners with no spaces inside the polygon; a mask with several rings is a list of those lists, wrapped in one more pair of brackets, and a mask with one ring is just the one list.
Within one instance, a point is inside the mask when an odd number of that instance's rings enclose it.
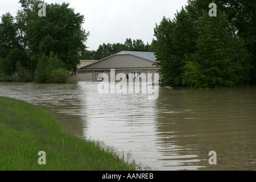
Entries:
{"label": "pale overcast sky above the trees and building", "polygon": [[[19,0],[0,0],[0,15],[15,16]],[[124,43],[126,38],[142,39],[144,44],[154,39],[155,23],[163,16],[174,18],[187,0],[46,0],[46,3],[68,2],[85,17],[83,25],[90,32],[86,46],[97,50],[102,43]]]}

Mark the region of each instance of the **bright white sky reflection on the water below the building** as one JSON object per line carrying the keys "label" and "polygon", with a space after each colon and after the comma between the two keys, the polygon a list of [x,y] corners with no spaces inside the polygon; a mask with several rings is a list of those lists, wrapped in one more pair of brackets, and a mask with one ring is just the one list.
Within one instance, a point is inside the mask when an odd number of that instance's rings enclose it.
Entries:
{"label": "bright white sky reflection on the water below the building", "polygon": [[80,82],[87,97],[88,127],[84,135],[131,152],[142,163],[155,166],[155,102],[144,94],[98,94],[97,83]]}

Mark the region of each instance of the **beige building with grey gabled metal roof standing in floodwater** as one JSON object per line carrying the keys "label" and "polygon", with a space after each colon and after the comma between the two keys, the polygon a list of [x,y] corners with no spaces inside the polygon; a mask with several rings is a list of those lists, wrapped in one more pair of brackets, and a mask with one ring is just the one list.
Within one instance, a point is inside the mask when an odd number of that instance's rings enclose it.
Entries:
{"label": "beige building with grey gabled metal roof standing in floodwater", "polygon": [[158,73],[159,68],[154,65],[156,60],[154,52],[131,52],[122,51],[112,56],[106,57],[95,63],[85,65],[79,69],[77,80],[79,81],[96,81],[102,73],[106,73],[110,77],[110,71],[115,69],[115,76],[118,73],[125,75],[135,74],[141,75],[145,73]]}

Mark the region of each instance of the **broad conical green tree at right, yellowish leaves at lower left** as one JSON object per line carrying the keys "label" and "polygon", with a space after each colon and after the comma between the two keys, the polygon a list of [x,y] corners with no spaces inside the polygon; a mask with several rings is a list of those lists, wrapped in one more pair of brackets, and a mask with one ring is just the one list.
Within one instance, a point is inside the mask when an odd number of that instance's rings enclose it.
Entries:
{"label": "broad conical green tree at right, yellowish leaves at lower left", "polygon": [[233,34],[228,16],[218,12],[210,17],[205,11],[198,20],[197,51],[185,65],[183,83],[196,88],[222,88],[249,80],[247,52]]}

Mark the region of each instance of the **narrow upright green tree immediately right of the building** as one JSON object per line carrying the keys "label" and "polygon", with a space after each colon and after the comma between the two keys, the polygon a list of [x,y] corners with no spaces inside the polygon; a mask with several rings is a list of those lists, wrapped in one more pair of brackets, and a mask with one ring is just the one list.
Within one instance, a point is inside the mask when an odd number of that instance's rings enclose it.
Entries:
{"label": "narrow upright green tree immediately right of the building", "polygon": [[195,23],[187,11],[182,9],[175,19],[165,17],[156,24],[154,42],[156,65],[160,67],[162,85],[183,85],[182,75],[187,56],[195,52],[197,32]]}

